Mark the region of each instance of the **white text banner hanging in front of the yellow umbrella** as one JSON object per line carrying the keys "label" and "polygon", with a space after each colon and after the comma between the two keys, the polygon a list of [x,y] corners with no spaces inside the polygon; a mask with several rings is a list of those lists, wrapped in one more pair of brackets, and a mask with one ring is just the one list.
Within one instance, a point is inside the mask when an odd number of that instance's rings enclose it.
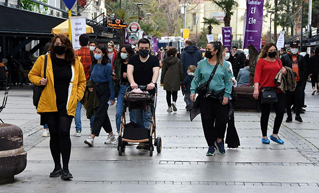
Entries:
{"label": "white text banner hanging in front of the yellow umbrella", "polygon": [[79,37],[81,34],[86,33],[85,17],[70,17],[70,20],[73,49],[78,50],[81,48]]}

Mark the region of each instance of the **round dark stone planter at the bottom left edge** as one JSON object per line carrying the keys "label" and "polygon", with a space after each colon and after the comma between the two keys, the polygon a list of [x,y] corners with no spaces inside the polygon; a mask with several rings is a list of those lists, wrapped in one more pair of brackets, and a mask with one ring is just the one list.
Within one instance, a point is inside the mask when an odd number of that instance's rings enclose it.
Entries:
{"label": "round dark stone planter at the bottom left edge", "polygon": [[14,181],[14,175],[26,167],[22,130],[12,124],[0,123],[0,184]]}

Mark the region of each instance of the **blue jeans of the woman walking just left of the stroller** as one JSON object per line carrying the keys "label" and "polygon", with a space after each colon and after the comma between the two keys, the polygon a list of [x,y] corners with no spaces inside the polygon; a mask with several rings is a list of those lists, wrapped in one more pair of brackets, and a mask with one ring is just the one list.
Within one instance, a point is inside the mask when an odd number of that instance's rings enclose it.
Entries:
{"label": "blue jeans of the woman walking just left of the stroller", "polygon": [[[122,112],[123,112],[123,96],[125,94],[126,89],[130,87],[129,85],[120,85],[120,90],[119,90],[119,95],[117,97],[117,103],[116,103],[116,115],[115,115],[115,120],[116,120],[116,128],[117,132],[120,132],[121,128],[121,117],[122,117]],[[130,121],[135,122],[135,116],[134,116],[134,111],[132,110],[130,112]]]}

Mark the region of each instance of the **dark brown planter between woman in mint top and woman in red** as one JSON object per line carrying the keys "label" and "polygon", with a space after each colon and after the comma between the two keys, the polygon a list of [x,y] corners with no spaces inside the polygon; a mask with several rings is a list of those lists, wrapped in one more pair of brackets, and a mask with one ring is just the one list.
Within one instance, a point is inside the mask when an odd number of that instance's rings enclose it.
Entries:
{"label": "dark brown planter between woman in mint top and woman in red", "polygon": [[236,87],[237,95],[235,109],[259,111],[259,102],[253,97],[254,87]]}

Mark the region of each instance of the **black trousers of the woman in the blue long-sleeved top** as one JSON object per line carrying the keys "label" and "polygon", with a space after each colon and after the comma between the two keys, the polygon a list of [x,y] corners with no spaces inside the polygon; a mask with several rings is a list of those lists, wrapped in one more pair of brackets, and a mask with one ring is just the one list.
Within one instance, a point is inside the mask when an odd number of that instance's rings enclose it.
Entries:
{"label": "black trousers of the woman in the blue long-sleeved top", "polygon": [[102,127],[105,132],[112,132],[112,125],[108,115],[108,101],[111,93],[108,83],[95,84],[95,88],[95,92],[99,98],[99,107],[95,113],[95,118],[92,125],[92,134],[98,137]]}

